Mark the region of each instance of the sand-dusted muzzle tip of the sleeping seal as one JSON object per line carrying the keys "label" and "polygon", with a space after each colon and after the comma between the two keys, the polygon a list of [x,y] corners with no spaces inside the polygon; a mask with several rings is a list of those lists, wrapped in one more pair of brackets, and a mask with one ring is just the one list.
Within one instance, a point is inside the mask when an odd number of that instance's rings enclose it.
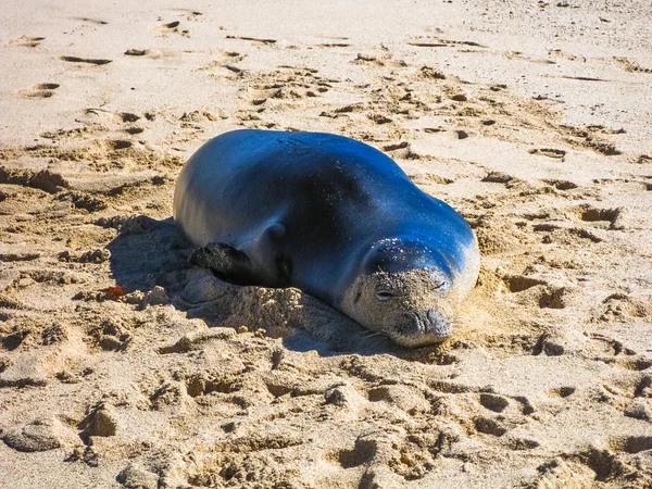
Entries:
{"label": "sand-dusted muzzle tip of the sleeping seal", "polygon": [[391,338],[408,348],[440,343],[453,329],[451,322],[435,309],[410,312],[405,314],[405,325],[400,330],[392,331]]}

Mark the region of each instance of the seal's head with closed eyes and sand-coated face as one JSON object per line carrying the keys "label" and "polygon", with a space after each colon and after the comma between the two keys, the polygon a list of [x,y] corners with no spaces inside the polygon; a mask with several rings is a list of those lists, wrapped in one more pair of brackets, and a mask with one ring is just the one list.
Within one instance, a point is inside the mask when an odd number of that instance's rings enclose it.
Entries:
{"label": "seal's head with closed eyes and sand-coated face", "polygon": [[451,262],[451,256],[418,240],[377,241],[344,291],[341,309],[404,347],[440,342],[451,334],[455,312],[469,289]]}

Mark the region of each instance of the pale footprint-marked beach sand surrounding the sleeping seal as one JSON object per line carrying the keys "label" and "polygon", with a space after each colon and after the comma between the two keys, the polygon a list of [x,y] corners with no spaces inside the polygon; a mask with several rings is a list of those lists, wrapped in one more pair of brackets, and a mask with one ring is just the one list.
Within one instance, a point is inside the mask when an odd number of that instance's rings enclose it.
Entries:
{"label": "pale footprint-marked beach sand surrounding the sleeping seal", "polygon": [[[652,8],[477,3],[3,2],[0,487],[652,487]],[[454,337],[189,267],[175,177],[237,127],[459,209]]]}

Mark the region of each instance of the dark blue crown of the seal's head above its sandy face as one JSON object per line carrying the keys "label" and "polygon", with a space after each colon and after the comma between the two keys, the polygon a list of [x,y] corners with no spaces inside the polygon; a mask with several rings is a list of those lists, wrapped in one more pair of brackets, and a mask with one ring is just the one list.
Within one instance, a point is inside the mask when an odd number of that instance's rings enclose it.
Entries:
{"label": "dark blue crown of the seal's head above its sandy face", "polygon": [[369,275],[378,272],[394,274],[413,269],[431,269],[438,275],[451,275],[446,258],[416,240],[383,239],[375,242],[364,258],[364,272]]}

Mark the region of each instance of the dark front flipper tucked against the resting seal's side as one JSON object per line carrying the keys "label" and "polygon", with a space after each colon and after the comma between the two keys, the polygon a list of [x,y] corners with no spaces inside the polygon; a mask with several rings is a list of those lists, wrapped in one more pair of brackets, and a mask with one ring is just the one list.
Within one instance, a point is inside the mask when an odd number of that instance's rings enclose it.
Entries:
{"label": "dark front flipper tucked against the resting seal's side", "polygon": [[211,268],[220,278],[231,284],[258,284],[249,256],[225,242],[211,242],[195,250],[190,263]]}

